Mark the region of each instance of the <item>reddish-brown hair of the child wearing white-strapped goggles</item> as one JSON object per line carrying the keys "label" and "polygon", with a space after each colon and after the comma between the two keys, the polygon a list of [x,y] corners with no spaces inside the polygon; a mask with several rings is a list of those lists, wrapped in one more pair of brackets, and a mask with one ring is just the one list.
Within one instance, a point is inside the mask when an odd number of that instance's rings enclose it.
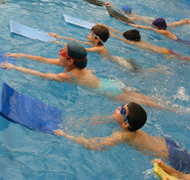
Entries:
{"label": "reddish-brown hair of the child wearing white-strapped goggles", "polygon": [[[106,42],[109,38],[109,31],[106,27],[101,25],[95,25],[92,27],[91,31],[97,35],[103,42]],[[98,42],[98,45],[103,45],[100,41]]]}

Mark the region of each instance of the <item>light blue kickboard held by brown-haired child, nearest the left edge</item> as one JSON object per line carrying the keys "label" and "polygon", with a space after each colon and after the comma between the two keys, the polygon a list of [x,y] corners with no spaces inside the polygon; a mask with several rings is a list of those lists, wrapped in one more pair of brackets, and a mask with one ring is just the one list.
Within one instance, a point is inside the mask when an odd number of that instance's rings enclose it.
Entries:
{"label": "light blue kickboard held by brown-haired child, nearest the left edge", "polygon": [[34,29],[14,21],[10,21],[10,32],[44,42],[56,41],[55,37],[50,36],[45,31]]}

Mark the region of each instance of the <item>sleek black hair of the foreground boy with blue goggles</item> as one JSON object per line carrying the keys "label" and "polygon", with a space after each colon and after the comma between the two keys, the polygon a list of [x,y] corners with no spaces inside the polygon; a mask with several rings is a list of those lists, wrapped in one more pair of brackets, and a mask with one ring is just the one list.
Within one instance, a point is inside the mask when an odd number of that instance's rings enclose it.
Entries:
{"label": "sleek black hair of the foreground boy with blue goggles", "polygon": [[130,130],[136,131],[144,126],[147,120],[146,111],[139,105],[134,102],[128,104],[129,114],[127,120],[130,124]]}

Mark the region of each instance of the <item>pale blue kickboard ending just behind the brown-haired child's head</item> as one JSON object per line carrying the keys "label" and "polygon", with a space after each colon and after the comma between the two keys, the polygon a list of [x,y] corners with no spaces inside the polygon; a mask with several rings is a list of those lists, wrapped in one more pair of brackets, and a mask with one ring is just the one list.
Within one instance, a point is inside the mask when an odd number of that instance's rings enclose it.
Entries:
{"label": "pale blue kickboard ending just behind the brown-haired child's head", "polygon": [[86,29],[92,29],[92,27],[95,26],[95,24],[92,22],[85,21],[76,17],[72,17],[66,14],[63,14],[63,17],[67,23],[70,23],[79,27],[83,27]]}

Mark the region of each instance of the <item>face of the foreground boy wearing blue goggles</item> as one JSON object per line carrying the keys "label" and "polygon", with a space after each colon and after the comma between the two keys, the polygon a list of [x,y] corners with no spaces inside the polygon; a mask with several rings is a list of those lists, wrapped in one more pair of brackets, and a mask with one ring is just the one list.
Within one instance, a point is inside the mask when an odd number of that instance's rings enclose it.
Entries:
{"label": "face of the foreground boy wearing blue goggles", "polygon": [[[127,117],[129,114],[128,104],[125,104],[123,108],[125,110],[125,116]],[[112,115],[113,119],[116,120],[119,124],[126,122],[123,115],[121,114],[121,109],[122,107],[118,107]]]}

